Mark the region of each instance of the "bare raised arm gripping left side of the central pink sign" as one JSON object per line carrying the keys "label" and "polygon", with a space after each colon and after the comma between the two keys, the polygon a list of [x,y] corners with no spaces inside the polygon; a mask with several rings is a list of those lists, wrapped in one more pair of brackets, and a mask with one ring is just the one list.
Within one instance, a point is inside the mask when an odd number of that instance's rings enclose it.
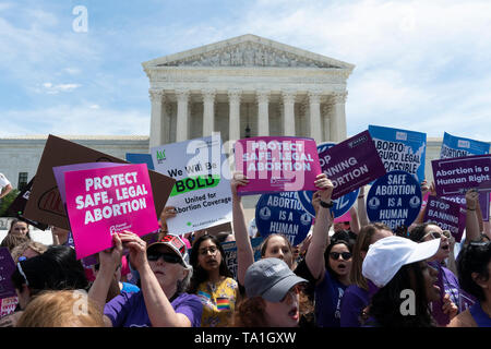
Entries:
{"label": "bare raised arm gripping left side of the central pink sign", "polygon": [[254,263],[254,251],[249,239],[243,206],[240,196],[237,194],[237,186],[249,183],[242,172],[233,173],[230,181],[232,193],[232,228],[237,245],[237,278],[240,285],[244,285],[246,272]]}

